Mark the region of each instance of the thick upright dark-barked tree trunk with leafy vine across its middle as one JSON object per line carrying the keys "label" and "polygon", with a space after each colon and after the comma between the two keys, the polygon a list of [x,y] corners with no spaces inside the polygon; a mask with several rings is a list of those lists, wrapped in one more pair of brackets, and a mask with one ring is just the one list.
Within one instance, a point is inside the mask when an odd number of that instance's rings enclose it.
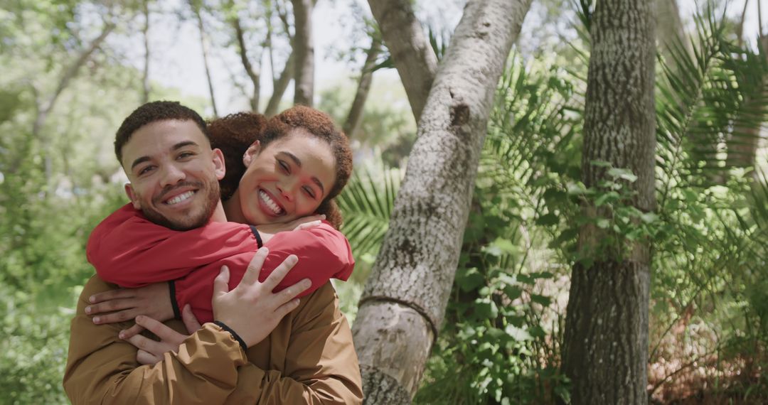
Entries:
{"label": "thick upright dark-barked tree trunk with leafy vine across its middle", "polygon": [[[642,212],[656,208],[654,153],[654,16],[652,0],[598,2],[591,21],[584,114],[582,180],[598,187],[607,176],[594,160],[631,170],[626,203]],[[602,190],[604,191],[604,190]],[[596,209],[584,207],[585,216]],[[610,214],[604,212],[604,214]],[[648,288],[650,243],[628,252],[607,252],[596,241],[609,235],[596,226],[579,231],[581,252],[594,264],[574,265],[564,332],[563,369],[574,404],[647,403]]]}

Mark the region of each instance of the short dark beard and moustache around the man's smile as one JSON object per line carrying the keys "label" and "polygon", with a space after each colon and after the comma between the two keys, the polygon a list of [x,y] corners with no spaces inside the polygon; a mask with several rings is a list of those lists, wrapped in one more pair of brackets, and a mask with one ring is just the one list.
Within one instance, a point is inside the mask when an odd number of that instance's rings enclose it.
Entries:
{"label": "short dark beard and moustache around the man's smile", "polygon": [[197,210],[197,213],[195,213],[195,209],[190,209],[190,215],[184,217],[184,219],[168,219],[165,216],[163,216],[160,212],[157,212],[153,207],[141,207],[141,213],[144,214],[144,216],[147,217],[150,221],[156,223],[160,226],[165,226],[166,228],[173,229],[174,231],[188,231],[190,229],[200,228],[200,226],[204,226],[208,223],[210,220],[210,216],[214,215],[214,210],[216,209],[217,204],[219,203],[220,199],[220,192],[219,192],[219,182],[214,179],[214,181],[207,181],[207,182],[184,182],[177,184],[173,187],[170,187],[168,189],[165,189],[163,193],[160,193],[159,196],[154,198],[152,200],[152,203],[154,206],[159,206],[160,204],[163,204],[162,199],[164,196],[167,195],[167,193],[170,193],[174,189],[178,189],[179,187],[186,187],[186,186],[192,186],[197,188],[196,193],[205,193],[205,198],[203,202],[203,206],[201,209]]}

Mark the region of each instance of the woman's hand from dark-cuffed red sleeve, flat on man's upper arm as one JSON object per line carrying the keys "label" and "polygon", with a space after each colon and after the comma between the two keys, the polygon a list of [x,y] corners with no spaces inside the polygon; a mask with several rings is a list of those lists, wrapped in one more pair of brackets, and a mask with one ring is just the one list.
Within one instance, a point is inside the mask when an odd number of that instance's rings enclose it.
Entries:
{"label": "woman's hand from dark-cuffed red sleeve, flat on man's upper arm", "polygon": [[157,321],[174,318],[170,305],[170,290],[167,282],[155,283],[139,288],[120,288],[91,295],[92,305],[85,307],[85,313],[94,316],[94,324],[114,324],[128,321],[139,315],[147,315]]}

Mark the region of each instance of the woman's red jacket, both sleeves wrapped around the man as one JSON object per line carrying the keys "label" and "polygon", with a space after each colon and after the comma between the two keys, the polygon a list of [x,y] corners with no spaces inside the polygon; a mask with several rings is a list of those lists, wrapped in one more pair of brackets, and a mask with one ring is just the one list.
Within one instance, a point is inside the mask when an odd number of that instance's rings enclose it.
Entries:
{"label": "woman's red jacket, both sleeves wrapped around the man", "polygon": [[[312,229],[279,232],[265,245],[270,254],[259,281],[263,282],[288,255],[296,255],[299,262],[274,291],[310,278],[312,287],[300,297],[331,277],[346,281],[355,265],[346,237],[325,221]],[[197,229],[174,231],[150,222],[127,204],[91,232],[86,254],[105,282],[128,288],[170,282],[174,313],[179,316],[179,308],[190,304],[197,320],[204,323],[214,318],[210,300],[221,266],[230,268],[231,290],[240,283],[258,248],[260,238],[253,226],[208,222]]]}

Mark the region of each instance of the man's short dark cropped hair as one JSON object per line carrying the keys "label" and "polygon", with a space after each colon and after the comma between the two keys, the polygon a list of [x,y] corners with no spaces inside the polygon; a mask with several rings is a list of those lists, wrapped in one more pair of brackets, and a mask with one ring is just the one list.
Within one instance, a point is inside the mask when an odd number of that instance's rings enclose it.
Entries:
{"label": "man's short dark cropped hair", "polygon": [[118,156],[118,162],[123,163],[123,147],[131,140],[131,136],[144,127],[148,123],[154,123],[157,121],[165,120],[190,120],[197,124],[197,127],[205,134],[205,137],[210,141],[210,133],[208,132],[205,120],[200,117],[190,107],[181,105],[178,101],[152,101],[147,104],[141,105],[134,112],[131,113],[118,129],[118,133],[114,136],[114,154]]}

